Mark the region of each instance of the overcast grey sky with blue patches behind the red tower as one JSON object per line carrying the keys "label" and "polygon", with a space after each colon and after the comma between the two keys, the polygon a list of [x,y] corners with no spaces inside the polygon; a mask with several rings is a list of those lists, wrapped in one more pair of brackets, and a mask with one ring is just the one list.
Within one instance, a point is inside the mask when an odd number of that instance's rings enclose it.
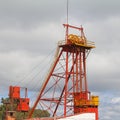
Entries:
{"label": "overcast grey sky with blue patches behind the red tower", "polygon": [[[44,77],[48,67],[43,68],[64,39],[63,23],[66,0],[0,0],[0,97],[8,95],[11,84],[32,86],[31,80]],[[119,120],[120,1],[69,0],[69,24],[83,25],[96,44],[87,79],[90,91],[100,96],[100,120]]]}

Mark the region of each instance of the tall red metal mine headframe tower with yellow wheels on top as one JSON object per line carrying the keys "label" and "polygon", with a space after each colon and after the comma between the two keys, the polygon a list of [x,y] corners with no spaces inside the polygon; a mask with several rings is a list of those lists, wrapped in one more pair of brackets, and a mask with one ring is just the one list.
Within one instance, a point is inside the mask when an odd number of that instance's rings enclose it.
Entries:
{"label": "tall red metal mine headframe tower with yellow wheels on top", "polygon": [[[86,78],[86,58],[95,45],[87,41],[82,27],[63,26],[66,28],[65,41],[58,43],[53,64],[28,118],[39,106],[52,117],[90,112],[95,113],[95,120],[98,120],[99,98],[90,94]],[[69,29],[78,30],[78,35],[70,34]]]}

